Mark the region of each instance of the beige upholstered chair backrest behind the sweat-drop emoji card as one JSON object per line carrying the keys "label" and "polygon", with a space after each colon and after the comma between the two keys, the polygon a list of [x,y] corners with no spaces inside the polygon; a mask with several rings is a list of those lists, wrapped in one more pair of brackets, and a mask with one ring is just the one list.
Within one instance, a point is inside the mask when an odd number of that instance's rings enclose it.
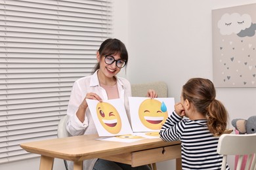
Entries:
{"label": "beige upholstered chair backrest behind the sweat-drop emoji card", "polygon": [[149,89],[153,89],[158,93],[158,97],[167,97],[168,88],[165,82],[148,82],[142,84],[131,84],[131,93],[133,97],[146,97]]}

